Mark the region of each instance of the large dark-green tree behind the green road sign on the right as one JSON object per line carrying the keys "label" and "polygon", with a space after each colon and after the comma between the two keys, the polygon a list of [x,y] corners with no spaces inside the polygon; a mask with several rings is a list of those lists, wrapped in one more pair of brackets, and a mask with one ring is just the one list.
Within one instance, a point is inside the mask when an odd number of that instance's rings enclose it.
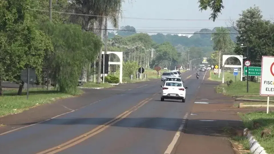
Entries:
{"label": "large dark-green tree behind the green road sign on the right", "polygon": [[[235,27],[239,31],[234,52],[251,60],[252,66],[261,67],[262,56],[274,55],[274,24],[263,20],[259,7],[250,7],[242,11]],[[240,48],[241,44],[248,48]],[[247,54],[248,50],[248,54]],[[254,80],[254,77],[251,77]]]}

